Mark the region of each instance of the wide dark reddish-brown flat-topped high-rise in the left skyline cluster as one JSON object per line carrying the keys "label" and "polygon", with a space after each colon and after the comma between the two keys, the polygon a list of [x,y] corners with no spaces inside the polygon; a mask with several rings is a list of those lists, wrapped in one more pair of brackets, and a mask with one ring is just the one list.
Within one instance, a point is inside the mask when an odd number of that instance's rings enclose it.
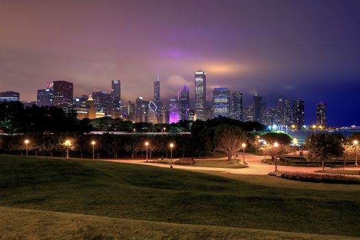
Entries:
{"label": "wide dark reddish-brown flat-topped high-rise in the left skyline cluster", "polygon": [[73,83],[67,81],[53,81],[53,105],[65,111],[73,107]]}

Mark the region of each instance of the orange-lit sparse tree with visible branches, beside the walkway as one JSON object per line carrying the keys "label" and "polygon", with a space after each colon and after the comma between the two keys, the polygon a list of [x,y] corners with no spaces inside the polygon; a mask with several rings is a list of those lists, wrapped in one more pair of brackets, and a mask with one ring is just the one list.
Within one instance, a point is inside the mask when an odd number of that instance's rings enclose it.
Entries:
{"label": "orange-lit sparse tree with visible branches, beside the walkway", "polygon": [[247,135],[239,127],[219,125],[215,130],[215,149],[228,156],[228,163],[230,163],[232,155],[241,150],[242,143],[247,141]]}

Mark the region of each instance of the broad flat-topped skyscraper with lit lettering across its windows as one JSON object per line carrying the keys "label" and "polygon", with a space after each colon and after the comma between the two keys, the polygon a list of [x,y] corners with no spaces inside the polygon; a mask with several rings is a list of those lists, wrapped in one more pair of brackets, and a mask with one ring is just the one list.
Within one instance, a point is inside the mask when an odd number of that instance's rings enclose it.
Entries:
{"label": "broad flat-topped skyscraper with lit lettering across its windows", "polygon": [[230,117],[230,91],[228,88],[214,88],[213,117]]}

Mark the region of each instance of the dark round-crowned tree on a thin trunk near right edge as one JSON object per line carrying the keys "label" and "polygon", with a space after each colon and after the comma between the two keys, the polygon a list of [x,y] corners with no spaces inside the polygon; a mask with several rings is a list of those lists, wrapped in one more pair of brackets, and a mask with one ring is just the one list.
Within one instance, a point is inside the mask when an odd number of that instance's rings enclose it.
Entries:
{"label": "dark round-crowned tree on a thin trunk near right edge", "polygon": [[341,157],[344,154],[341,140],[333,134],[311,134],[307,137],[305,145],[309,150],[308,158],[321,161],[322,171],[325,170],[325,160]]}

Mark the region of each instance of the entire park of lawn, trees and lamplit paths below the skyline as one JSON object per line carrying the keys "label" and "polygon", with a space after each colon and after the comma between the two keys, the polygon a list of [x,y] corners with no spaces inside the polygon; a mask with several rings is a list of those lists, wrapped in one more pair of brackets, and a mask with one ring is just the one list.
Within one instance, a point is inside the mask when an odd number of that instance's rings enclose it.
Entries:
{"label": "entire park of lawn, trees and lamplit paths below the skyline", "polygon": [[71,131],[93,125],[69,115],[56,125],[5,116],[1,239],[360,237],[356,132],[317,132],[300,147],[227,118],[151,125],[150,134],[149,124],[117,121],[128,134],[90,134]]}

